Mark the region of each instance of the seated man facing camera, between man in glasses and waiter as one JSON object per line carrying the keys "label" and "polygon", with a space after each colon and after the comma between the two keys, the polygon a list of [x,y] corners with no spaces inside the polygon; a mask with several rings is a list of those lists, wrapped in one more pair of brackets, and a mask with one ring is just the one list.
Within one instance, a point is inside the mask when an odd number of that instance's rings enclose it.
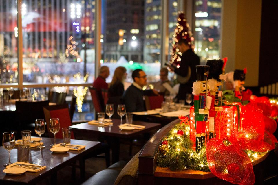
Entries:
{"label": "seated man facing camera, between man in glasses and waiter", "polygon": [[[166,83],[166,84],[164,84]],[[169,86],[168,86],[169,84]],[[168,79],[168,69],[163,67],[160,69],[160,81],[153,84],[154,89],[158,90],[160,93],[164,93],[164,95],[169,96],[170,92],[167,89],[168,87],[172,87],[172,83]],[[166,88],[165,88],[166,87]]]}

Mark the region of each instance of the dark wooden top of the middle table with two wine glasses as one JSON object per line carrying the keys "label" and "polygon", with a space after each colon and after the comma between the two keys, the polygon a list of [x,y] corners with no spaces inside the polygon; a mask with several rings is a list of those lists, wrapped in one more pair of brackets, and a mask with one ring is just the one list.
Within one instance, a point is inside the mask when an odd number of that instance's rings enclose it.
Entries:
{"label": "dark wooden top of the middle table with two wine glasses", "polygon": [[[135,125],[143,125],[146,128],[145,129],[134,129],[134,130],[120,130],[118,125],[120,125],[119,119],[112,119],[113,126],[105,126],[105,127],[98,127],[98,125],[91,125],[89,123],[80,123],[77,125],[70,126],[74,132],[84,132],[84,133],[90,133],[90,134],[97,134],[102,136],[113,136],[113,137],[119,137],[119,138],[128,138],[133,137],[134,135],[142,134],[145,132],[148,132],[152,129],[159,129],[161,127],[161,124],[159,123],[147,123],[143,121],[133,121],[132,124]],[[125,123],[125,120],[123,120],[123,124]]]}

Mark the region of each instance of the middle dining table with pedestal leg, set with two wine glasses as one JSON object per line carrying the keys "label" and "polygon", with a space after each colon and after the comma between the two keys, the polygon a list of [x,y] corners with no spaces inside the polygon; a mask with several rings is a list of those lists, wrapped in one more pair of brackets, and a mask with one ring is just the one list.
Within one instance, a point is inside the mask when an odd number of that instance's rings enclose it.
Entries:
{"label": "middle dining table with pedestal leg, set with two wine glasses", "polygon": [[[121,121],[112,119],[113,125],[100,127],[92,125],[88,122],[70,126],[75,135],[82,135],[85,139],[90,139],[92,136],[105,136],[108,140],[109,147],[112,151],[112,164],[119,161],[120,139],[136,138],[140,134],[148,133],[152,130],[160,129],[160,123],[147,123],[144,121],[133,121],[132,124],[145,126],[143,129],[123,130],[119,128]],[[123,121],[125,123],[125,121]]]}

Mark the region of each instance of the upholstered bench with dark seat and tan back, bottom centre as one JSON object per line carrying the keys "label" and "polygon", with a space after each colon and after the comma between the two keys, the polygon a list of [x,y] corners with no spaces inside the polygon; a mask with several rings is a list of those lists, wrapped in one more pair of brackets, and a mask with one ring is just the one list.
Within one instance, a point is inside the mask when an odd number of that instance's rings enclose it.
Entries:
{"label": "upholstered bench with dark seat and tan back, bottom centre", "polygon": [[136,184],[138,155],[139,152],[136,153],[128,163],[125,161],[119,161],[112,164],[107,169],[102,170],[87,179],[82,185]]}

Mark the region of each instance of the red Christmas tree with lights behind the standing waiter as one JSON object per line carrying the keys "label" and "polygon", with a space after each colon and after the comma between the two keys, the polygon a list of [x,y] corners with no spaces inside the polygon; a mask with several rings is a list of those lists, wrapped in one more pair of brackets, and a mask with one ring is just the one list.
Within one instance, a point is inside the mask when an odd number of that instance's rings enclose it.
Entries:
{"label": "red Christmas tree with lights behind the standing waiter", "polygon": [[189,24],[186,22],[185,14],[181,12],[177,18],[178,23],[177,27],[175,28],[175,34],[173,35],[172,47],[173,51],[171,54],[171,60],[169,61],[170,64],[178,65],[180,64],[180,53],[176,48],[176,43],[179,42],[180,39],[185,39],[189,46],[191,47],[192,41],[194,38],[192,37],[192,33],[189,27]]}

